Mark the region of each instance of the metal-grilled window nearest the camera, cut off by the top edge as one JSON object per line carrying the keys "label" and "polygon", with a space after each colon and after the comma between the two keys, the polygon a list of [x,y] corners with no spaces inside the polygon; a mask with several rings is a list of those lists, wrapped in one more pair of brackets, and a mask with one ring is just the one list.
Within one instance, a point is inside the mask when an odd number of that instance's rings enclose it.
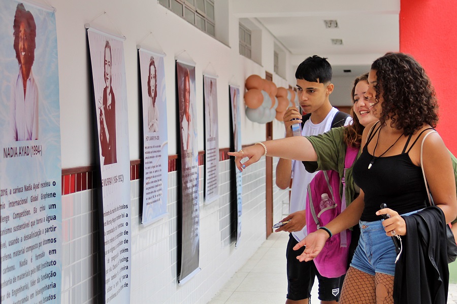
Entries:
{"label": "metal-grilled window nearest the camera, cut off by the top edge", "polygon": [[215,37],[214,0],[159,0],[159,3]]}

